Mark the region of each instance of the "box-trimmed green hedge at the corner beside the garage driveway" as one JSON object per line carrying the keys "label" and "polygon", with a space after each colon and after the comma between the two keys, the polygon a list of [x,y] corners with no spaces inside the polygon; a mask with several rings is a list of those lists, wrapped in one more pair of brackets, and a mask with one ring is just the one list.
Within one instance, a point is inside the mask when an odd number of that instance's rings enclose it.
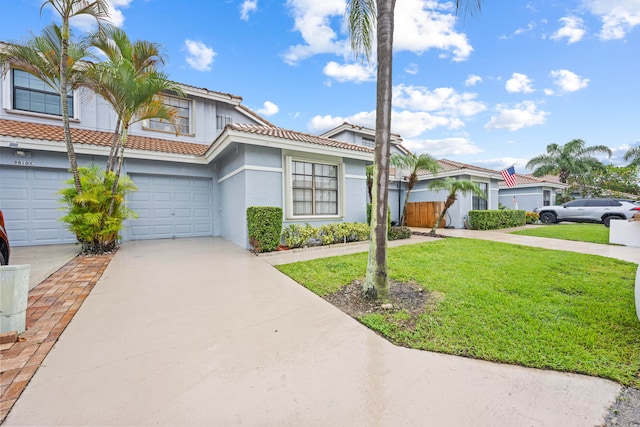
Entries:
{"label": "box-trimmed green hedge at the corner beside the garage driveway", "polygon": [[247,208],[249,243],[254,252],[272,252],[280,245],[282,234],[282,208],[277,206],[250,206]]}

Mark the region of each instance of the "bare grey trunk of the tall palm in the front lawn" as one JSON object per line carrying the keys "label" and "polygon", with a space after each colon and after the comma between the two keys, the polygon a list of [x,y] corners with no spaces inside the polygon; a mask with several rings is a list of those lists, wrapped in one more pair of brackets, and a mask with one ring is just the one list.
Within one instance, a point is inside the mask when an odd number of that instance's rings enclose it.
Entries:
{"label": "bare grey trunk of the tall palm in the front lawn", "polygon": [[366,297],[386,299],[389,294],[387,217],[389,210],[389,157],[391,146],[391,90],[393,61],[393,10],[395,0],[378,0],[378,75],[376,85],[376,145],[373,167],[373,210]]}

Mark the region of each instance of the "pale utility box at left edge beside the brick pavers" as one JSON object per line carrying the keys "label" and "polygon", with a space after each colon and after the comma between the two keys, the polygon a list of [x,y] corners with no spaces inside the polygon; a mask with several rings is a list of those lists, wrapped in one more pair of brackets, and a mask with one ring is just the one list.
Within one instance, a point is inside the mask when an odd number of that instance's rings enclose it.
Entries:
{"label": "pale utility box at left edge beside the brick pavers", "polygon": [[0,266],[0,333],[26,329],[31,265]]}

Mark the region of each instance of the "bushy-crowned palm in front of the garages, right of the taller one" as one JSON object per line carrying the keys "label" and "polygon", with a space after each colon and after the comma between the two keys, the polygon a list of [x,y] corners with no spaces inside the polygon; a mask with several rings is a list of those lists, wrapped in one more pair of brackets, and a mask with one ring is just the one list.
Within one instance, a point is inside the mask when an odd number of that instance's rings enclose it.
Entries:
{"label": "bushy-crowned palm in front of the garages, right of the taller one", "polygon": [[104,98],[118,117],[115,132],[119,138],[114,140],[117,147],[112,149],[114,158],[117,158],[117,168],[107,168],[115,173],[115,195],[129,128],[142,120],[159,118],[171,123],[177,135],[177,111],[164,104],[161,94],[173,92],[181,95],[182,90],[156,68],[163,62],[158,45],[145,41],[132,43],[117,28],[107,28],[94,35],[92,44],[107,56],[107,60],[91,64],[84,73],[83,84]]}

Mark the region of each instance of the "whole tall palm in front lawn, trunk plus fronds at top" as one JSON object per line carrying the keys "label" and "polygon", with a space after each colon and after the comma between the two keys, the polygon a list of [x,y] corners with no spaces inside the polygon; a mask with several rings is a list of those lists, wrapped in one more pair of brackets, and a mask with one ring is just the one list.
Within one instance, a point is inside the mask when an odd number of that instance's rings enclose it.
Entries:
{"label": "whole tall palm in front lawn, trunk plus fronds at top", "polygon": [[[456,10],[479,10],[482,0],[471,4],[456,0]],[[371,243],[363,294],[385,299],[389,293],[387,263],[387,215],[389,209],[389,158],[391,149],[391,93],[395,0],[349,0],[347,12],[351,48],[360,58],[371,59],[373,35],[377,43],[376,135],[373,163]]]}

